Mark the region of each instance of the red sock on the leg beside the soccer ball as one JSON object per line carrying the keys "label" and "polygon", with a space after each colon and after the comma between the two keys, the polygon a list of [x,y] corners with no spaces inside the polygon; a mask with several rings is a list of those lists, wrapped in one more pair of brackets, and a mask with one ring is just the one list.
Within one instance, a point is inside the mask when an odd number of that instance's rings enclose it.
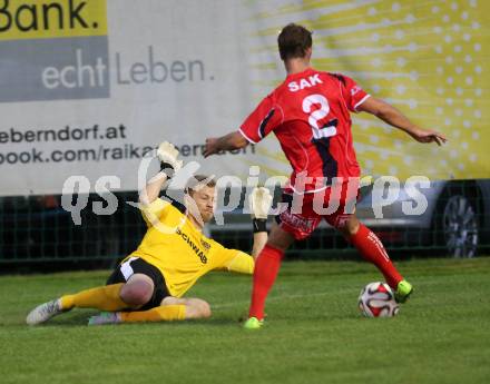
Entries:
{"label": "red sock on the leg beside the soccer ball", "polygon": [[361,224],[357,233],[351,236],[351,243],[357,248],[364,259],[373,263],[381,270],[388,285],[396,289],[398,284],[403,277],[398,273],[393,263],[391,263],[378,236]]}

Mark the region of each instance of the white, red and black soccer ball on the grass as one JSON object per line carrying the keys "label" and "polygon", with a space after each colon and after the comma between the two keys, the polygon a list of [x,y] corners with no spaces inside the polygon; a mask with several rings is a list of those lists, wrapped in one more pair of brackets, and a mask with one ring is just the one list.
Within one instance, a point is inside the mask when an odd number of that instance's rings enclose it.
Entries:
{"label": "white, red and black soccer ball on the grass", "polygon": [[385,283],[370,283],[359,295],[359,309],[366,317],[393,317],[399,313],[399,305],[393,292]]}

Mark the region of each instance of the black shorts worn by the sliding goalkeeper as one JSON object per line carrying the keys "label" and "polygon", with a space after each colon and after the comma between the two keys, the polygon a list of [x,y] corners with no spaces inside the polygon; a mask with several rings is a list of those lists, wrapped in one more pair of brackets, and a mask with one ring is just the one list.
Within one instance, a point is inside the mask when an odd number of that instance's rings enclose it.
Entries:
{"label": "black shorts worn by the sliding goalkeeper", "polygon": [[165,278],[161,275],[160,270],[139,257],[129,257],[124,260],[124,263],[118,265],[107,279],[106,285],[126,283],[134,274],[143,274],[148,276],[149,278],[151,278],[155,285],[150,301],[138,311],[155,308],[161,304],[161,301],[165,297],[171,296],[167,289]]}

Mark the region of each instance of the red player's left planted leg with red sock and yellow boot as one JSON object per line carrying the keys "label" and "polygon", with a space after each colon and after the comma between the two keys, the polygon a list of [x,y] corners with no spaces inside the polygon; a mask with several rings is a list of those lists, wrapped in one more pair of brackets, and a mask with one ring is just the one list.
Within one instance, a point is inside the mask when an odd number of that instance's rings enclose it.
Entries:
{"label": "red player's left planted leg with red sock and yellow boot", "polygon": [[274,224],[264,249],[255,260],[254,285],[248,319],[245,328],[259,328],[264,321],[265,299],[281,268],[285,250],[293,244],[294,237]]}

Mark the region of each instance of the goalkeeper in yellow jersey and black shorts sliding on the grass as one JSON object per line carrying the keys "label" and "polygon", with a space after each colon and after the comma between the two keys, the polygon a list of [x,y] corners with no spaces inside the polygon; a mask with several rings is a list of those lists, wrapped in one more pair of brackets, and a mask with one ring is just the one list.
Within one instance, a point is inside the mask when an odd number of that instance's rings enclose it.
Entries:
{"label": "goalkeeper in yellow jersey and black shorts sliding on the grass", "polygon": [[255,188],[249,198],[254,218],[252,257],[227,249],[202,233],[214,214],[213,178],[192,178],[185,189],[184,213],[158,197],[165,181],[183,165],[169,142],[160,145],[158,157],[161,171],[139,195],[148,230],[138,249],[117,266],[106,286],[39,305],[27,316],[29,325],[45,323],[76,307],[102,311],[90,317],[89,325],[209,317],[210,308],[205,301],[183,297],[197,279],[210,270],[253,274],[254,257],[267,242],[265,219],[272,205],[268,190]]}

